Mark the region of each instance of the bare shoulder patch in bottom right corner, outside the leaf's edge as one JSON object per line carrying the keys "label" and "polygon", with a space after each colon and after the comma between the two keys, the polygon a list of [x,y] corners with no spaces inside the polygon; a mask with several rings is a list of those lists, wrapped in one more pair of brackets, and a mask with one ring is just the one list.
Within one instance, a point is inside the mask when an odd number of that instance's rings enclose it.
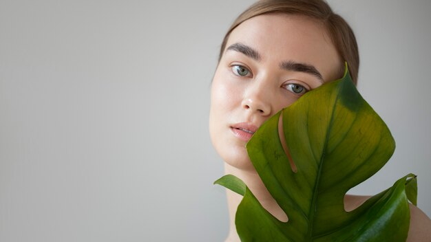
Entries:
{"label": "bare shoulder patch in bottom right corner, outside the leaf's edge", "polygon": [[431,220],[413,204],[410,204],[410,229],[407,241],[431,242]]}

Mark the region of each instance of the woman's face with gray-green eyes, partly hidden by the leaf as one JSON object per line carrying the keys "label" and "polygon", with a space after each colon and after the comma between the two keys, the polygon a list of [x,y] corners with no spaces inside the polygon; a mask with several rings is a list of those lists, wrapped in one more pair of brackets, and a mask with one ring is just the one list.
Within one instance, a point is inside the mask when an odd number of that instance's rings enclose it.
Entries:
{"label": "woman's face with gray-green eyes, partly hidden by the leaf", "polygon": [[306,91],[336,80],[344,66],[321,23],[300,16],[264,14],[229,36],[211,87],[209,131],[231,166],[253,166],[245,144],[253,133]]}

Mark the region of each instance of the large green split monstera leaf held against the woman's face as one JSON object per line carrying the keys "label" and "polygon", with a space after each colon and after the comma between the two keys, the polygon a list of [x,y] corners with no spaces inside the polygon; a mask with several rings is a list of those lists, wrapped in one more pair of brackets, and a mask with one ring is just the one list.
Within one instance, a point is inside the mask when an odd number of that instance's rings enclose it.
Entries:
{"label": "large green split monstera leaf held against the woman's face", "polygon": [[246,148],[288,221],[266,211],[240,179],[224,176],[215,183],[244,196],[235,215],[242,241],[406,241],[416,176],[406,175],[355,210],[344,209],[346,192],[395,150],[388,127],[359,95],[347,67],[343,78],[267,120]]}

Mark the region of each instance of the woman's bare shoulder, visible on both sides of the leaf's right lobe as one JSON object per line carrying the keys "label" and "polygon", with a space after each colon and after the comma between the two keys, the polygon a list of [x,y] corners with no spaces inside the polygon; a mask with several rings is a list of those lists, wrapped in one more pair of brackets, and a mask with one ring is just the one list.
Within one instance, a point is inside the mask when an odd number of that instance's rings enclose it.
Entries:
{"label": "woman's bare shoulder, visible on both sides of the leaf's right lobe", "polygon": [[[354,210],[361,206],[370,196],[346,195],[344,208],[346,211]],[[431,219],[417,206],[410,203],[410,229],[408,230],[408,242],[431,242]]]}

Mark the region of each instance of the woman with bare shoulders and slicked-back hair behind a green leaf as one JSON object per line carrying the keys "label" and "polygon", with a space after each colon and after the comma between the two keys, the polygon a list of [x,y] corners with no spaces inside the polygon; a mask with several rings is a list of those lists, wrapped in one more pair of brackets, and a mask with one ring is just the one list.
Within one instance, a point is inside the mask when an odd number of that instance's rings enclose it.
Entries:
{"label": "woman with bare shoulders and slicked-back hair behind a green leaf", "polygon": [[[341,78],[348,63],[357,81],[359,54],[348,24],[320,0],[262,0],[235,20],[222,43],[211,87],[211,141],[225,173],[242,179],[262,206],[288,218],[257,175],[245,144],[269,117],[311,89]],[[227,191],[230,232],[240,241],[235,212],[242,197]],[[346,210],[367,197],[346,195]],[[431,221],[410,206],[408,241],[431,241]]]}

